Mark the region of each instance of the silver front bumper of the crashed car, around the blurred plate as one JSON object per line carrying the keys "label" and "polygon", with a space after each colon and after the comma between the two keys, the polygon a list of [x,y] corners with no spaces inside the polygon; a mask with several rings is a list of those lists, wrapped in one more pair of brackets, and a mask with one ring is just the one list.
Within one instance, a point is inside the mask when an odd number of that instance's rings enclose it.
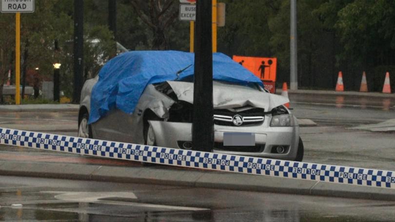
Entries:
{"label": "silver front bumper of the crashed car, around the blurred plate", "polygon": [[[254,126],[214,125],[214,152],[294,160],[299,143],[299,126],[270,127],[271,116]],[[296,117],[295,118],[295,123]],[[192,123],[149,121],[158,146],[169,148],[191,148]],[[255,134],[255,146],[224,146],[224,132],[246,132]],[[183,146],[183,145],[186,146]],[[277,147],[284,148],[283,153]]]}

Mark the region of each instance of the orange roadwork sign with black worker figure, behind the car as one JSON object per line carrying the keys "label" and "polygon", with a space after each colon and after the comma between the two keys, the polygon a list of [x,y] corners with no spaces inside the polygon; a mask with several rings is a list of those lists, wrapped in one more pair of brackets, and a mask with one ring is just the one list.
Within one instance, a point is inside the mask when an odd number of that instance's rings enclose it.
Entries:
{"label": "orange roadwork sign with black worker figure, behind the car", "polygon": [[233,56],[233,60],[261,80],[276,82],[277,58]]}

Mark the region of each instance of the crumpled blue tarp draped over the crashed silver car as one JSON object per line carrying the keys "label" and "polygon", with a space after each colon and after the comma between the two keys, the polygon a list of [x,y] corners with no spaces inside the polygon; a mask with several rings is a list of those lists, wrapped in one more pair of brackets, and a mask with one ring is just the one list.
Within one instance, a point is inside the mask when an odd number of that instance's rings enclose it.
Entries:
{"label": "crumpled blue tarp draped over the crashed silver car", "polygon": [[[149,84],[193,79],[194,56],[178,51],[132,51],[112,58],[101,68],[99,81],[92,89],[89,124],[114,108],[132,114]],[[221,53],[213,54],[213,78],[263,87],[253,73]]]}

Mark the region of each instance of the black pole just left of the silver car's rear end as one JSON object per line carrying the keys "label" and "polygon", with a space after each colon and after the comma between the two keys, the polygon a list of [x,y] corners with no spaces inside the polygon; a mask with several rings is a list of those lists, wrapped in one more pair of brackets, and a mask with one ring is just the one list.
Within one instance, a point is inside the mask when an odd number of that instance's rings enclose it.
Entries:
{"label": "black pole just left of the silver car's rear end", "polygon": [[79,103],[83,74],[83,0],[74,0],[74,89],[73,102]]}

